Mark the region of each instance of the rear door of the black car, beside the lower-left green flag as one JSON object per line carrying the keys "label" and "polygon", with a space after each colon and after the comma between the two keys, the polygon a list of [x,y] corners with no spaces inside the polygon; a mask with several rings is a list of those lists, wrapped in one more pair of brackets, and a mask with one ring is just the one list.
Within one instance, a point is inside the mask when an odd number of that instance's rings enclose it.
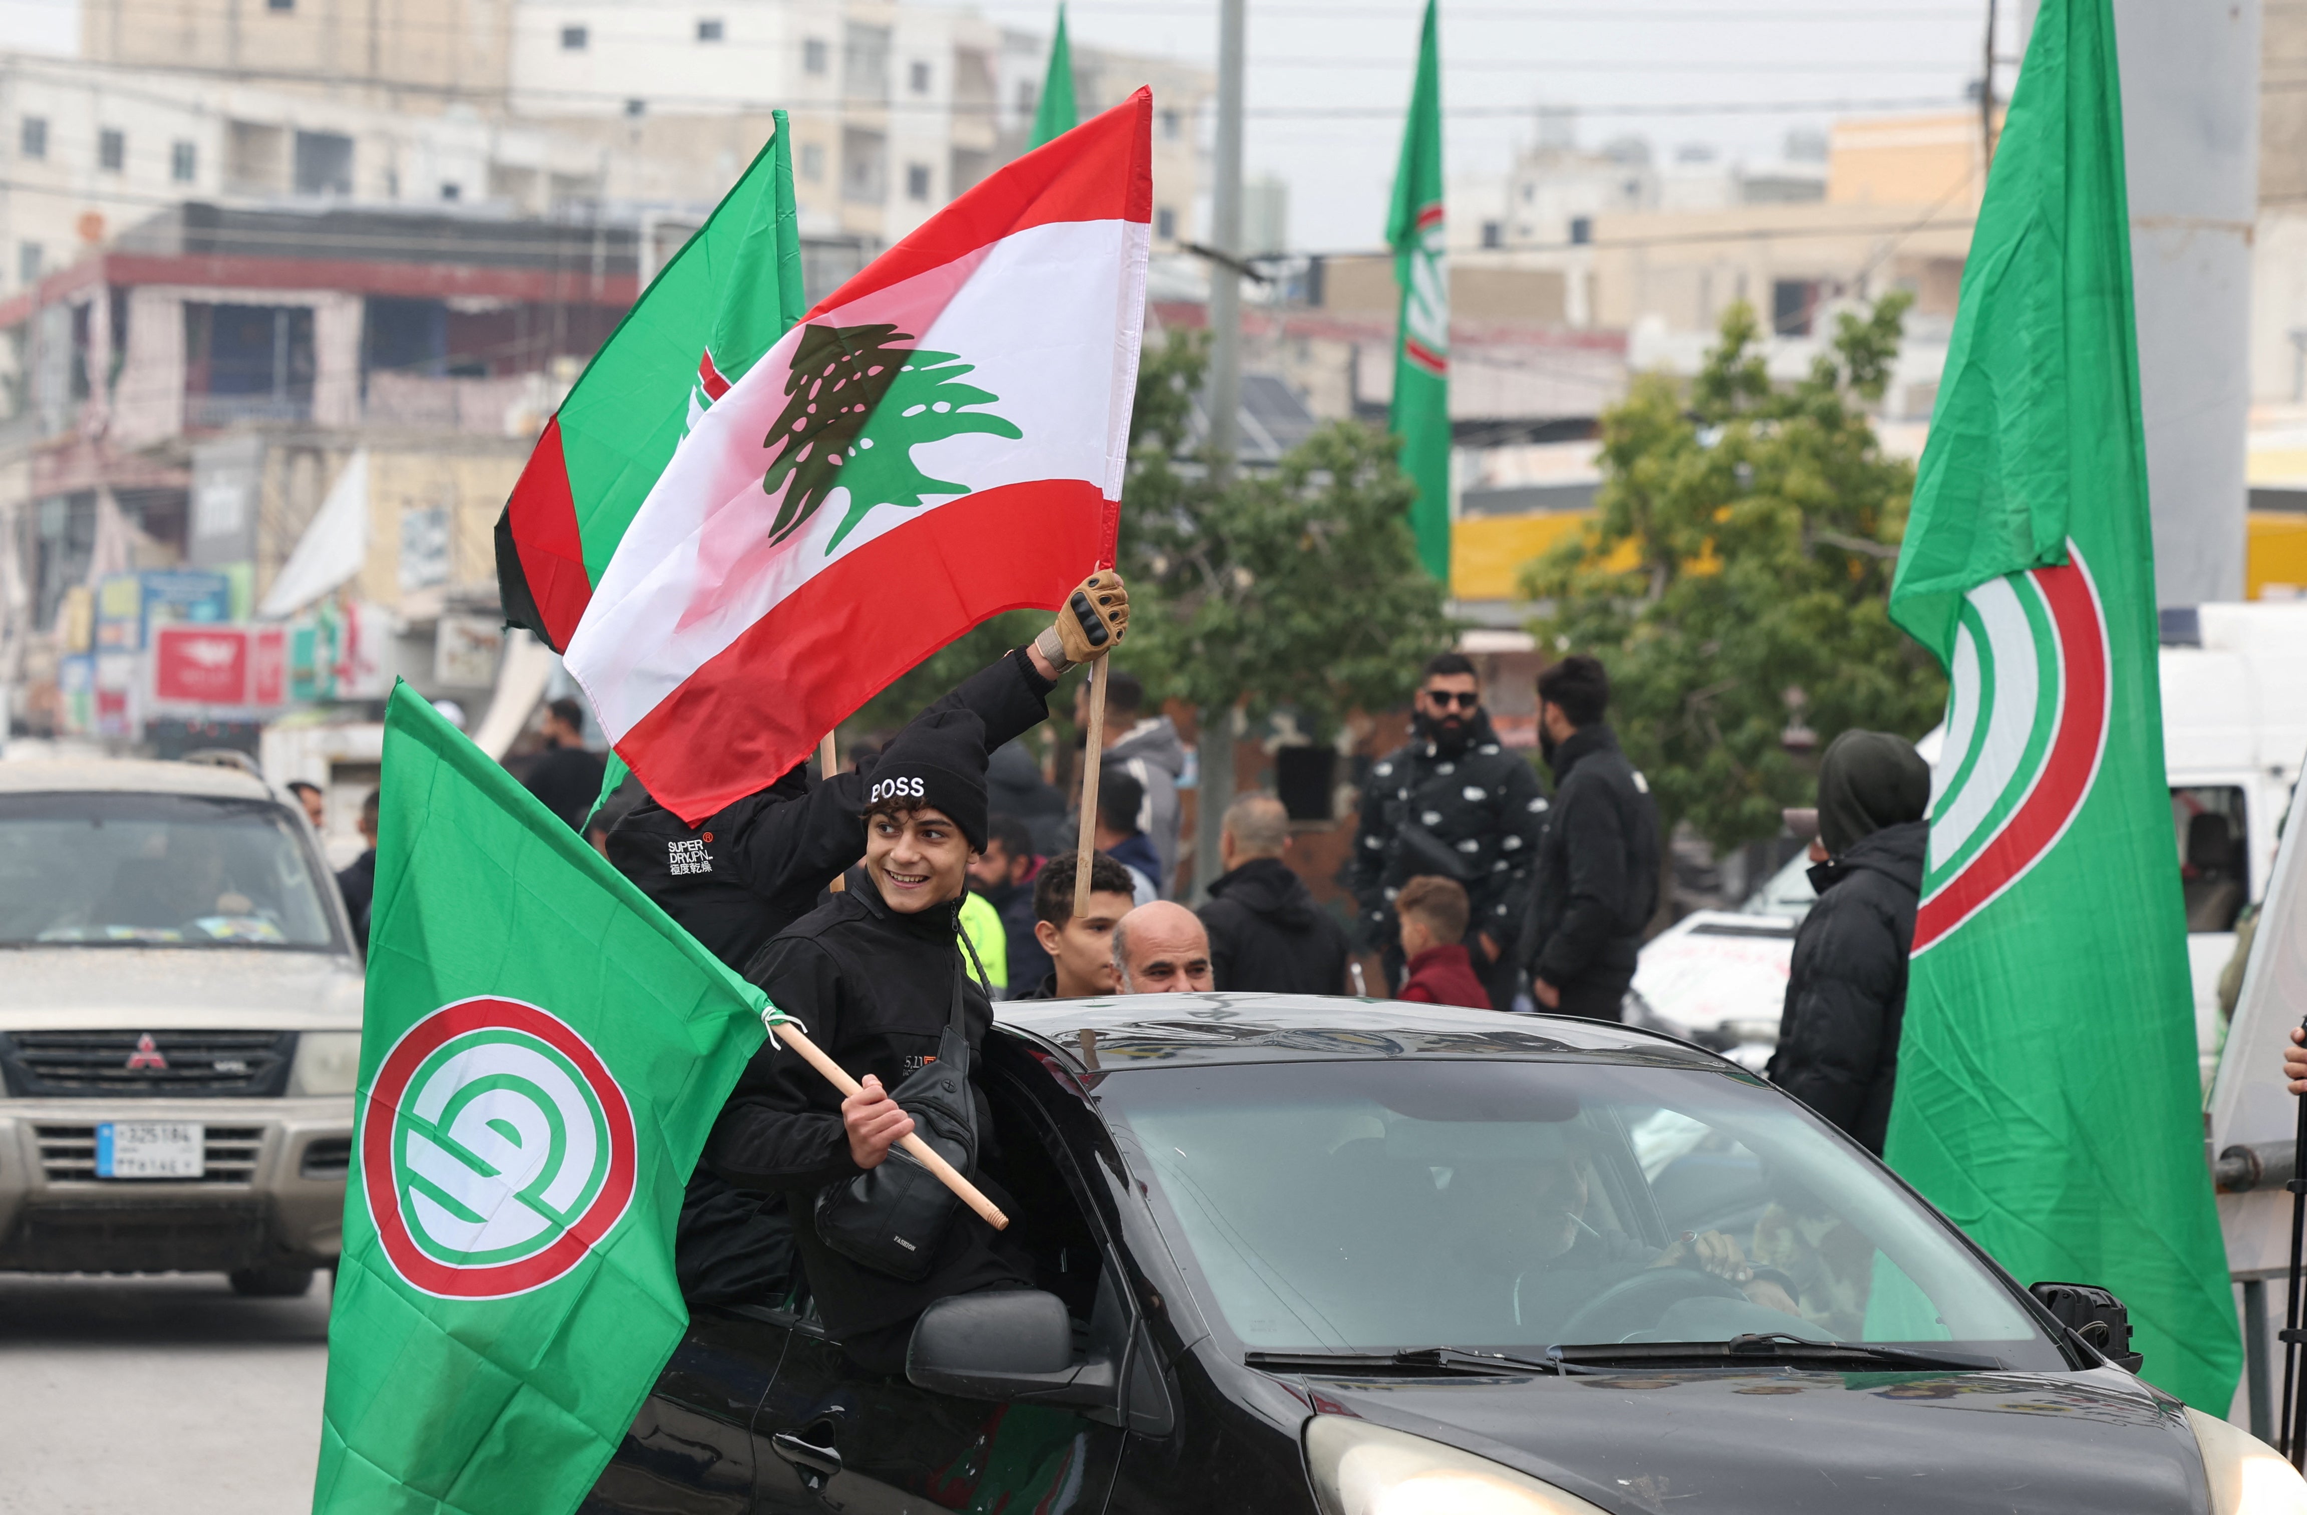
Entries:
{"label": "rear door of the black car, beside the lower-left green flag", "polygon": [[787,1321],[699,1305],[579,1515],[747,1515],[766,1453],[752,1423]]}

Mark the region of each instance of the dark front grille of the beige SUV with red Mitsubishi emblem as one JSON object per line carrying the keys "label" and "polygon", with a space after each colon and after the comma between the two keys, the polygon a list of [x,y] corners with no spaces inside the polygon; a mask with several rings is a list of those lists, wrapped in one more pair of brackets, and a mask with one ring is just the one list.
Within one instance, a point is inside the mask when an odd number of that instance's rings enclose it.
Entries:
{"label": "dark front grille of the beige SUV with red Mitsubishi emblem", "polygon": [[295,1031],[14,1031],[7,1091],[39,1095],[277,1095]]}

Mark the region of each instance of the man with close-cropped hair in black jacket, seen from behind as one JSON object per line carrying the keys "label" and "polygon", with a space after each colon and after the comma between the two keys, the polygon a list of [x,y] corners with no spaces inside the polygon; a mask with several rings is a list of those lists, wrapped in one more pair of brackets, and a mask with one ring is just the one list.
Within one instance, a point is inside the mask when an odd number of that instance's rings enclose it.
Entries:
{"label": "man with close-cropped hair in black jacket, seen from behind", "polygon": [[1290,872],[1290,812],[1269,793],[1225,807],[1218,862],[1202,927],[1220,989],[1345,994],[1345,927]]}

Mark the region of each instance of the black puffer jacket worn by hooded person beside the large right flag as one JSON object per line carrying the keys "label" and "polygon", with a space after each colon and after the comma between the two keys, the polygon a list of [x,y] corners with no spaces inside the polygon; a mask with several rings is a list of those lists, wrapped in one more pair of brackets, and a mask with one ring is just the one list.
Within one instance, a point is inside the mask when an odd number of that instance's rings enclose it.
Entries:
{"label": "black puffer jacket worn by hooded person beside the large right flag", "polygon": [[1859,837],[1811,869],[1818,904],[1795,932],[1772,1084],[1883,1153],[1899,1079],[1906,955],[1915,945],[1924,821]]}

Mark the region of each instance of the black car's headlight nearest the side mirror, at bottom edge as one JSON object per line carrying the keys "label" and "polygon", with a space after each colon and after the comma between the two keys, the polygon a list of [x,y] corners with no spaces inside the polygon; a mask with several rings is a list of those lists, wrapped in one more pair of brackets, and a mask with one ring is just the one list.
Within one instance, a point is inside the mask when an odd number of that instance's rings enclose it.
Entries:
{"label": "black car's headlight nearest the side mirror, at bottom edge", "polygon": [[1324,1515],[1606,1515],[1502,1462],[1345,1416],[1306,1423],[1306,1467]]}

